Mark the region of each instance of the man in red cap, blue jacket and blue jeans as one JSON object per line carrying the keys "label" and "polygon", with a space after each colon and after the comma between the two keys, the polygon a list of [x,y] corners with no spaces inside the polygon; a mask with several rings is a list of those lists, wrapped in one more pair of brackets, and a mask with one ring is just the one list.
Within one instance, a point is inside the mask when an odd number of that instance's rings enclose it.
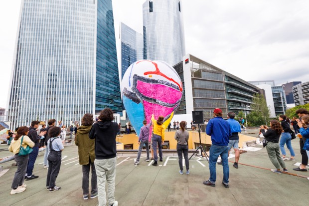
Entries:
{"label": "man in red cap, blue jacket and blue jeans", "polygon": [[211,137],[211,148],[209,150],[209,171],[210,178],[203,184],[215,187],[216,182],[216,163],[218,157],[221,156],[223,165],[223,181],[225,188],[229,188],[229,164],[228,164],[228,143],[229,137],[232,135],[231,128],[227,121],[222,118],[222,110],[216,108],[213,110],[214,118],[209,120],[206,128],[206,134]]}

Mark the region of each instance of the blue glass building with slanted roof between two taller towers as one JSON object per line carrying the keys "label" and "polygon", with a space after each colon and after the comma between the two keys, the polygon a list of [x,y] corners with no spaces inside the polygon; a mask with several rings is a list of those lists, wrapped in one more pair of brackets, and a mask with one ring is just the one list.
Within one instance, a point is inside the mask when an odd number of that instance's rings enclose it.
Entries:
{"label": "blue glass building with slanted roof between two taller towers", "polygon": [[143,59],[143,34],[138,33],[123,22],[120,24],[121,79],[128,67]]}

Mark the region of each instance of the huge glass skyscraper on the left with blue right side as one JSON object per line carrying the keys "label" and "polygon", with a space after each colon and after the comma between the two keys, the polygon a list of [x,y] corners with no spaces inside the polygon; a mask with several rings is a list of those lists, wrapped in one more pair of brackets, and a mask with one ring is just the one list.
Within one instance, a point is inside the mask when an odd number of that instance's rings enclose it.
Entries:
{"label": "huge glass skyscraper on the left with blue right side", "polygon": [[121,112],[112,0],[23,0],[8,120],[69,126],[105,107]]}

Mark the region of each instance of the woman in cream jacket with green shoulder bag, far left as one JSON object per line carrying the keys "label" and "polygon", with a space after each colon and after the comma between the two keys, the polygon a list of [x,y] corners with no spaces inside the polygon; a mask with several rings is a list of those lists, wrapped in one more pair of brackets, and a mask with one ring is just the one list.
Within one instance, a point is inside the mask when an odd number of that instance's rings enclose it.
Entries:
{"label": "woman in cream jacket with green shoulder bag, far left", "polygon": [[32,148],[34,146],[34,142],[32,142],[27,136],[28,132],[29,129],[27,127],[19,127],[19,129],[17,130],[17,135],[15,135],[14,140],[12,140],[10,146],[8,147],[8,150],[14,154],[14,159],[17,163],[17,170],[15,172],[14,179],[11,185],[11,195],[14,195],[16,193],[22,193],[26,190],[27,187],[27,185],[23,184],[23,181],[27,170],[29,155],[19,156],[18,154],[20,145],[24,148],[26,148],[27,146]]}

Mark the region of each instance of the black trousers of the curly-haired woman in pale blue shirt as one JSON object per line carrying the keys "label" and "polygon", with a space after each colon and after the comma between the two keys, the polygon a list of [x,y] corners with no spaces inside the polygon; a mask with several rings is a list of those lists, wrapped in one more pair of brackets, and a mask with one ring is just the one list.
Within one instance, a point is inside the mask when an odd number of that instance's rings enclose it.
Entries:
{"label": "black trousers of the curly-haired woman in pale blue shirt", "polygon": [[46,187],[54,188],[61,166],[61,151],[50,151],[48,155],[48,173]]}

